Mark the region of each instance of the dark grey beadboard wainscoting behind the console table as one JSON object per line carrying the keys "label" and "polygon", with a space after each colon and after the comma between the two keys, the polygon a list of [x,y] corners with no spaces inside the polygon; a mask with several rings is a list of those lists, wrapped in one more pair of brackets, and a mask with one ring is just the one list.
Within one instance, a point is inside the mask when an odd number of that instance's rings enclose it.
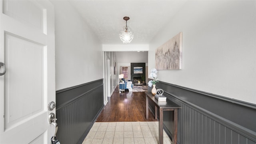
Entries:
{"label": "dark grey beadboard wainscoting behind the console table", "polygon": [[[178,144],[256,144],[255,104],[165,82],[156,87],[182,107],[178,110]],[[153,106],[150,104],[154,114]],[[173,112],[164,111],[169,136],[172,124]]]}

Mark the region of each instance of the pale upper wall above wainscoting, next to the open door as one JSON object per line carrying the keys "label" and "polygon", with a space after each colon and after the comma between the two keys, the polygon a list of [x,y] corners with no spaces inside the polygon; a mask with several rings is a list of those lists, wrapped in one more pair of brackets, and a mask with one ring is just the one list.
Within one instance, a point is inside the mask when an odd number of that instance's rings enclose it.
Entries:
{"label": "pale upper wall above wainscoting, next to the open door", "polygon": [[56,90],[103,78],[102,43],[68,1],[55,6]]}

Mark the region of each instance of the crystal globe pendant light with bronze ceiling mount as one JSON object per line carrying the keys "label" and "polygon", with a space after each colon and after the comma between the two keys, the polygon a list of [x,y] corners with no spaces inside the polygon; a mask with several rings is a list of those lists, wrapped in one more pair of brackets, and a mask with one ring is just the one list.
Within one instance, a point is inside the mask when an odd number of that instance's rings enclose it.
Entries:
{"label": "crystal globe pendant light with bronze ceiling mount", "polygon": [[124,20],[126,21],[126,26],[124,26],[123,30],[119,32],[120,39],[124,44],[130,43],[134,36],[132,29],[129,26],[127,26],[127,20],[129,19],[130,18],[128,16],[124,17]]}

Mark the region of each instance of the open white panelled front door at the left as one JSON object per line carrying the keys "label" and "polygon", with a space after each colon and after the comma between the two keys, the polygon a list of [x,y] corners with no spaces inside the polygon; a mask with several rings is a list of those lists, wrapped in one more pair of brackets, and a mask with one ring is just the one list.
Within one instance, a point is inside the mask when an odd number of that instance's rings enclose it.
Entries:
{"label": "open white panelled front door at the left", "polygon": [[46,144],[54,135],[55,109],[47,108],[55,102],[54,36],[49,1],[0,1],[1,144]]}

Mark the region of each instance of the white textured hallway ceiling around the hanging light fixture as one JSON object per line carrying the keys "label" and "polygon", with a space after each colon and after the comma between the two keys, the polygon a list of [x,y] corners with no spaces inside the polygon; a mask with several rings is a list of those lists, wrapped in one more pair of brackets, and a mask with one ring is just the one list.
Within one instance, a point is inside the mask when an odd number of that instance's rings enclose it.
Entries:
{"label": "white textured hallway ceiling around the hanging light fixture", "polygon": [[166,26],[186,0],[70,0],[102,44],[122,44],[119,32],[127,25],[134,38],[130,44],[148,44]]}

